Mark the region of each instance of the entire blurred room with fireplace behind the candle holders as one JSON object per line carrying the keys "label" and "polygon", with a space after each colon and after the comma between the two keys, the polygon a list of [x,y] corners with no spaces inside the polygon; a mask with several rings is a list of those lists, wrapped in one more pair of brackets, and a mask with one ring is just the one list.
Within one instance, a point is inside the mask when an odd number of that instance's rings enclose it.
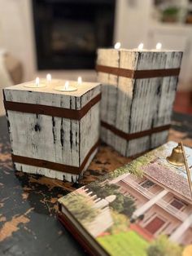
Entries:
{"label": "entire blurred room with fireplace behind the candle holders", "polygon": [[95,81],[98,47],[184,51],[175,110],[192,113],[191,0],[1,0],[2,88],[45,77]]}

